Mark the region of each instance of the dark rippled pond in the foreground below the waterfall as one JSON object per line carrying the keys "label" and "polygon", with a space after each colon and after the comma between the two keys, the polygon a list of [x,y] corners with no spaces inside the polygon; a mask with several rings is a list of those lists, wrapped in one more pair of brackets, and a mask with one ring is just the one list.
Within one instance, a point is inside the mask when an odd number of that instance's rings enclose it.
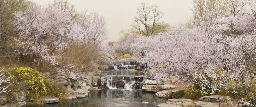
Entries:
{"label": "dark rippled pond in the foreground below the waterfall", "polygon": [[[43,105],[43,107],[156,107],[157,104],[165,103],[166,100],[156,97],[155,93],[142,92],[140,89],[133,91],[103,89],[91,91],[86,98],[64,100],[60,103]],[[141,101],[149,103],[144,104]]]}

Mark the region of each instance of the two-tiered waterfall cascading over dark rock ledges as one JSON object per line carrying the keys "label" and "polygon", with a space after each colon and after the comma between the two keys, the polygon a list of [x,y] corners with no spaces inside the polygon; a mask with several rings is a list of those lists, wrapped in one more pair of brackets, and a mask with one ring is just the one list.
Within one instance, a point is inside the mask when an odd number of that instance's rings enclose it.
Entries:
{"label": "two-tiered waterfall cascading over dark rock ledges", "polygon": [[141,76],[141,72],[136,70],[136,62],[123,60],[114,62],[109,66],[107,72],[107,86],[110,89],[141,89],[146,77]]}

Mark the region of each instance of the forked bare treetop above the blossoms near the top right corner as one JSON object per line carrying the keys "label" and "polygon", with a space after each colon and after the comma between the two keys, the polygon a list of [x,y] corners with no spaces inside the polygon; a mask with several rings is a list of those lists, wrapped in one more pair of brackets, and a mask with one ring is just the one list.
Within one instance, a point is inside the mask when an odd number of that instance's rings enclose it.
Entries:
{"label": "forked bare treetop above the blossoms near the top right corner", "polygon": [[230,7],[230,12],[232,15],[236,15],[237,13],[241,12],[245,5],[249,4],[247,0],[229,0],[228,5]]}

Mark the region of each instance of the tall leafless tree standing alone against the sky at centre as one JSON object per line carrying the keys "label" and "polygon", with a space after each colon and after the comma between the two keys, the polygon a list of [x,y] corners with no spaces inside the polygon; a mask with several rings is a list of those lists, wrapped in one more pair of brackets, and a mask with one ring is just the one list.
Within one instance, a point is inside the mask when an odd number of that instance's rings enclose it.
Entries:
{"label": "tall leafless tree standing alone against the sky at centre", "polygon": [[150,36],[156,30],[163,27],[163,22],[160,19],[164,13],[159,9],[158,5],[142,3],[140,8],[137,8],[137,15],[134,17],[134,27],[141,35]]}

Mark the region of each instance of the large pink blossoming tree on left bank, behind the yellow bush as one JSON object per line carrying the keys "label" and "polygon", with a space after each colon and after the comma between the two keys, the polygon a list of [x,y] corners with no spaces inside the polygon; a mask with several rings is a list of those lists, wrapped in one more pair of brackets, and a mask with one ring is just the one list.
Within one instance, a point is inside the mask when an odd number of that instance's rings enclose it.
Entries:
{"label": "large pink blossoming tree on left bank, behind the yellow bush", "polygon": [[[81,40],[80,26],[74,25],[68,13],[55,7],[35,7],[32,12],[21,16],[17,12],[14,17],[21,17],[14,24],[19,37],[16,38],[17,55],[30,55],[38,64],[46,61],[51,65],[58,64],[55,52],[65,49],[72,41]],[[80,33],[80,35],[74,34]]]}

